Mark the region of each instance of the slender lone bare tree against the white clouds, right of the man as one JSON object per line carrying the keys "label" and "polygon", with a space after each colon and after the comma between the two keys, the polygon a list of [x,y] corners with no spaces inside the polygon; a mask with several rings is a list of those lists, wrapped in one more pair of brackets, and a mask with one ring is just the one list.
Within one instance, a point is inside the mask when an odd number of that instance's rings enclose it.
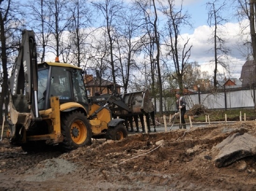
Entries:
{"label": "slender lone bare tree against the white clouds, right of the man", "polygon": [[214,43],[214,77],[213,77],[213,85],[217,86],[217,68],[218,65],[222,65],[223,68],[228,68],[225,62],[222,62],[222,57],[227,56],[229,53],[229,49],[225,47],[226,40],[222,38],[222,32],[218,30],[218,27],[222,25],[222,23],[226,22],[227,19],[223,19],[221,16],[221,12],[226,6],[225,1],[221,5],[217,5],[218,0],[213,0],[213,2],[208,2],[207,7],[209,8],[208,13],[208,25],[213,30],[212,41]]}

